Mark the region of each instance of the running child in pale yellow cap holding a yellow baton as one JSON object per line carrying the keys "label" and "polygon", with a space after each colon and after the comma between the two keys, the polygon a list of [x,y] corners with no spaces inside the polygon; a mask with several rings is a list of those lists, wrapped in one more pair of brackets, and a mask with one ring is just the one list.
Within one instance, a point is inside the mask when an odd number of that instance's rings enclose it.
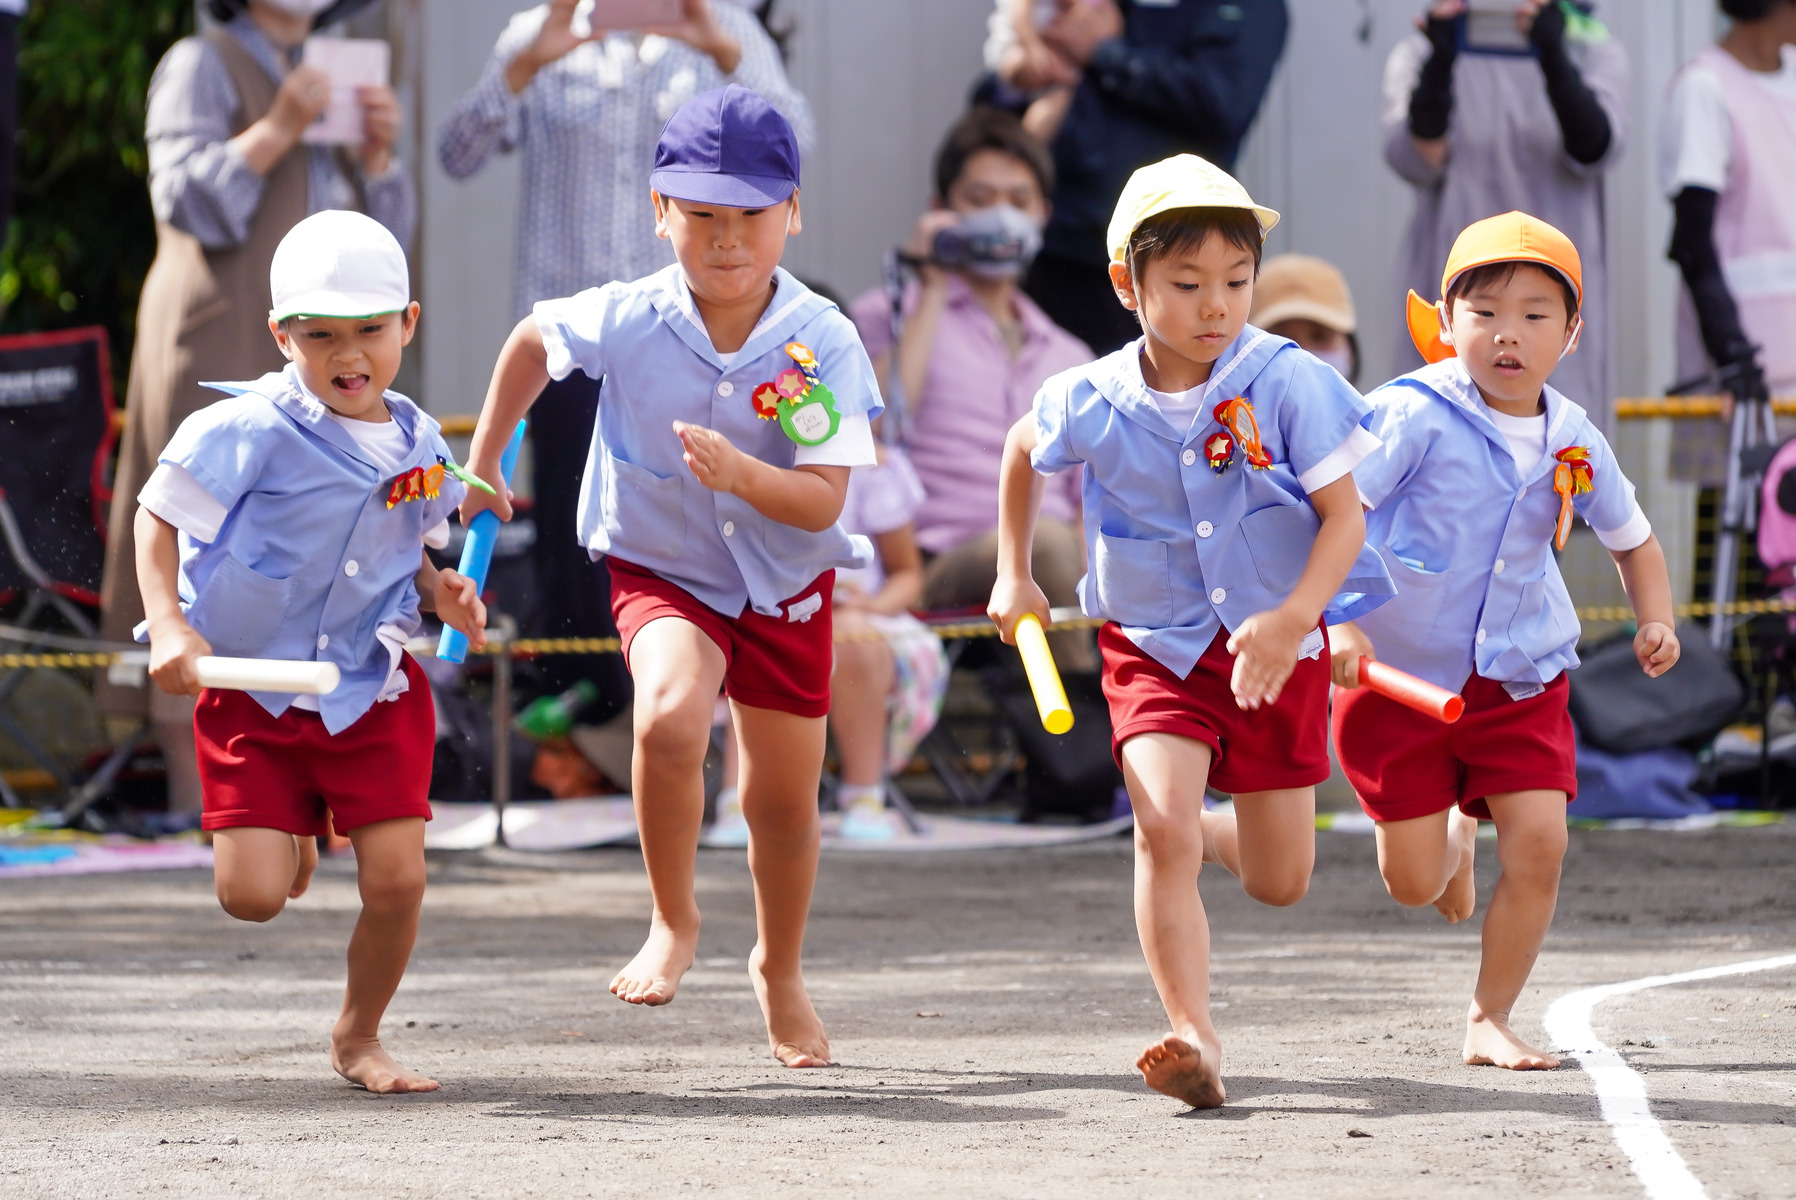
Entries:
{"label": "running child in pale yellow cap holding a yellow baton", "polygon": [[[1336,593],[1365,611],[1390,577],[1365,548],[1352,467],[1370,408],[1325,363],[1246,323],[1279,214],[1178,154],[1137,171],[1110,223],[1110,278],[1142,336],[1047,381],[1004,447],[991,620],[1047,622],[1029,544],[1043,474],[1085,463],[1079,602],[1114,753],[1135,807],[1135,925],[1173,1031],[1135,1063],[1148,1087],[1223,1103],[1211,1024],[1203,862],[1250,896],[1304,898],[1315,785],[1327,778]],[[1333,614],[1333,611],[1331,611]],[[1232,817],[1205,814],[1205,783]]]}

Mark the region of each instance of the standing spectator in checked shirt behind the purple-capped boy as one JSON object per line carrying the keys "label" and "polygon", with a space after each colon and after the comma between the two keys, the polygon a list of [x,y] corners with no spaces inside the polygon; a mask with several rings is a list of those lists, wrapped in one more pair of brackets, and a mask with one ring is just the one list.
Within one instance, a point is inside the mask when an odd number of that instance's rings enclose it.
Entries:
{"label": "standing spectator in checked shirt behind the purple-capped boy", "polygon": [[[632,280],[674,262],[656,235],[648,172],[674,110],[700,92],[740,83],[792,122],[799,149],[814,138],[810,104],[790,84],[779,47],[733,0],[684,0],[679,25],[589,29],[577,0],[517,13],[499,34],[480,81],[444,120],[442,169],[456,180],[494,153],[523,153],[523,198],[512,309]],[[578,548],[575,508],[598,413],[598,384],[580,372],[550,383],[530,411],[535,465],[537,589],[544,636],[612,636],[603,562]],[[629,675],[618,656],[548,661],[544,683],[598,683],[605,708],[621,706]]]}

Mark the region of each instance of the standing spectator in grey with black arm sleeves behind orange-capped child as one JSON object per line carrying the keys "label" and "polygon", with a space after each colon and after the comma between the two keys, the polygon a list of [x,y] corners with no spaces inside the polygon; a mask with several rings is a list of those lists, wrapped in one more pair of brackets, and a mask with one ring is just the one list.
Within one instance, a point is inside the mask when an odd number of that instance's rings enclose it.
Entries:
{"label": "standing spectator in grey with black arm sleeves behind orange-capped child", "polygon": [[[1613,316],[1602,174],[1627,142],[1627,54],[1588,4],[1518,0],[1492,43],[1464,0],[1437,0],[1385,63],[1385,162],[1415,187],[1403,282],[1440,287],[1458,232],[1521,210],[1564,230],[1584,260],[1584,334],[1555,388],[1609,428]],[[1422,365],[1399,331],[1395,372]]]}

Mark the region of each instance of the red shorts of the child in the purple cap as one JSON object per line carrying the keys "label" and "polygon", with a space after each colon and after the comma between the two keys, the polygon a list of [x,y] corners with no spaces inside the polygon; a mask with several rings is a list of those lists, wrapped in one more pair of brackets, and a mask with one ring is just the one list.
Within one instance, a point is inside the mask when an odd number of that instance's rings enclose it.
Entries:
{"label": "red shorts of the child in the purple cap", "polygon": [[[623,661],[643,625],[661,616],[691,622],[724,652],[724,695],[749,708],[770,708],[794,717],[830,711],[830,672],[835,668],[835,571],[824,571],[797,595],[779,602],[787,616],[744,609],[724,616],[679,584],[623,559],[611,564],[611,613],[623,640]],[[806,602],[815,598],[817,607]],[[796,613],[796,614],[794,614]]]}

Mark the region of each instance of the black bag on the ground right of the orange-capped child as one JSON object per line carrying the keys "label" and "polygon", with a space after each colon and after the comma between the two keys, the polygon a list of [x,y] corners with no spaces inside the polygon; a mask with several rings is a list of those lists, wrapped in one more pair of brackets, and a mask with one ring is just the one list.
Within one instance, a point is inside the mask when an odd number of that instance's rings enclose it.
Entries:
{"label": "black bag on the ground right of the orange-capped child", "polygon": [[1677,631],[1683,656],[1658,679],[1634,659],[1633,634],[1600,641],[1572,672],[1572,720],[1586,744],[1611,754],[1701,747],[1746,706],[1746,684],[1710,645],[1708,631]]}

